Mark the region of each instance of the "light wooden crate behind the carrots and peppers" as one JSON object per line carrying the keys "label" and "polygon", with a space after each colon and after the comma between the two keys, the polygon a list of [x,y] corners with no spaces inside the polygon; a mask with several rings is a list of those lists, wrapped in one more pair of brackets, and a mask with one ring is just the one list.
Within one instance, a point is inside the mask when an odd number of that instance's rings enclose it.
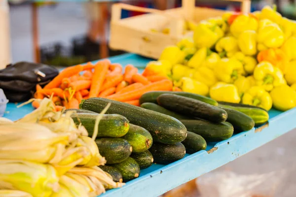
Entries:
{"label": "light wooden crate behind the carrots and peppers", "polygon": [[[242,12],[250,12],[250,0],[230,0],[242,2]],[[121,10],[147,12],[140,16],[121,18]],[[209,17],[222,16],[224,10],[195,7],[195,0],[183,0],[182,7],[160,11],[124,3],[112,5],[110,48],[136,53],[148,58],[158,59],[168,45],[175,45],[185,35],[185,20],[199,22]],[[170,28],[169,34],[152,32]]]}

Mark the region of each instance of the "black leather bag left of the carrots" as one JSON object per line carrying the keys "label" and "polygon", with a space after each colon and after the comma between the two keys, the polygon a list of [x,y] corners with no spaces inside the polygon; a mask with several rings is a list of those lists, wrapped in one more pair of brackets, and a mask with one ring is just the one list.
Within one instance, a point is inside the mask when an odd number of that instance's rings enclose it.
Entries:
{"label": "black leather bag left of the carrots", "polygon": [[25,101],[33,97],[37,84],[43,87],[58,74],[52,66],[19,62],[0,70],[0,89],[10,102]]}

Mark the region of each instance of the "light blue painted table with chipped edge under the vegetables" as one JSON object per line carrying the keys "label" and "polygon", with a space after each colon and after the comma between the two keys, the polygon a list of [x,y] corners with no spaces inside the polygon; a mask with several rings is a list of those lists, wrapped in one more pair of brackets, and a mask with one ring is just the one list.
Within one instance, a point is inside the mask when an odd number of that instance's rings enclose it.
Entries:
{"label": "light blue painted table with chipped edge under the vegetables", "polygon": [[[124,66],[133,64],[140,71],[150,61],[134,54],[116,56],[110,60]],[[18,109],[16,106],[15,103],[8,103],[4,117],[17,120],[33,110],[30,104]],[[296,108],[286,112],[271,109],[269,116],[268,124],[234,134],[219,143],[209,143],[205,151],[186,154],[182,160],[169,165],[153,164],[141,170],[139,178],[129,181],[123,188],[112,189],[101,197],[157,197],[296,128]]]}

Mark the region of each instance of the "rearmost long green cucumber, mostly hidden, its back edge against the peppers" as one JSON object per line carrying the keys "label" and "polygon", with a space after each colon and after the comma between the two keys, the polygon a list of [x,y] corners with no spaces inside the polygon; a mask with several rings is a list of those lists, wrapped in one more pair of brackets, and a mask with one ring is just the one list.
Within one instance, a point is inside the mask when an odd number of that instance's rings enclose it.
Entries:
{"label": "rearmost long green cucumber, mostly hidden, its back edge against the peppers", "polygon": [[163,95],[163,94],[180,95],[180,96],[183,96],[183,97],[200,100],[200,101],[209,103],[211,105],[215,105],[215,106],[218,105],[218,102],[216,100],[208,98],[208,97],[204,97],[204,96],[193,94],[193,93],[172,92],[172,91],[151,91],[151,92],[145,93],[144,95],[142,95],[142,97],[139,100],[140,104],[142,104],[144,102],[153,102],[153,103],[157,104],[157,98],[160,95]]}

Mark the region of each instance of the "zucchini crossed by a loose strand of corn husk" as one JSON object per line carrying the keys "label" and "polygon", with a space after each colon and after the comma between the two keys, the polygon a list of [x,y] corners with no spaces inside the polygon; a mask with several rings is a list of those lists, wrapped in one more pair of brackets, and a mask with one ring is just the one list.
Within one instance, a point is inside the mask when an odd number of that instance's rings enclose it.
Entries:
{"label": "zucchini crossed by a loose strand of corn husk", "polygon": [[[74,123],[78,126],[81,124],[92,136],[98,114],[92,113],[74,113],[71,114]],[[99,123],[97,137],[122,137],[129,130],[128,120],[119,114],[104,114]]]}

